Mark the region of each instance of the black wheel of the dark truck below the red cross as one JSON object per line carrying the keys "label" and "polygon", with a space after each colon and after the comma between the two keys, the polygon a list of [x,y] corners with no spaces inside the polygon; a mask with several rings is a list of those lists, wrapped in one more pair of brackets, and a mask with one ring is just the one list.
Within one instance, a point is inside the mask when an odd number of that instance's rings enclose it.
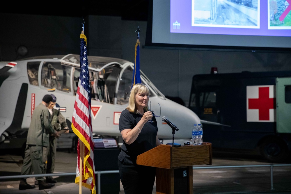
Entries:
{"label": "black wheel of the dark truck below the red cross", "polygon": [[260,146],[262,156],[269,162],[280,163],[286,161],[288,150],[283,140],[267,138]]}

